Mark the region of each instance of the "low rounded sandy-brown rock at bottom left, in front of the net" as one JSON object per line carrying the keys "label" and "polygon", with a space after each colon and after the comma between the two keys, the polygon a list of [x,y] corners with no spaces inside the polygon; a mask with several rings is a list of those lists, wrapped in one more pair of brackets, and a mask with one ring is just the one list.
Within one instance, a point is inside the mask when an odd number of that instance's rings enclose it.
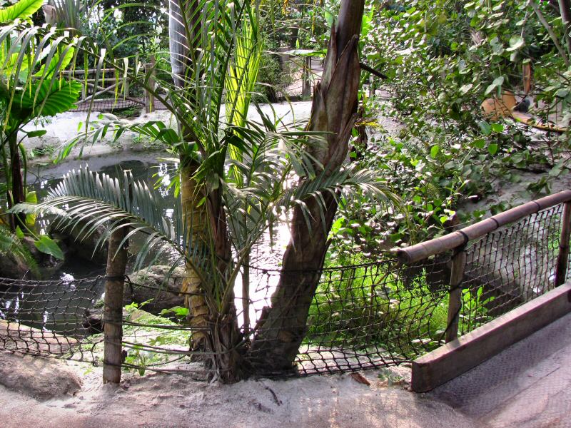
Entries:
{"label": "low rounded sandy-brown rock at bottom left, in front of the net", "polygon": [[81,379],[61,360],[0,352],[0,384],[35,399],[73,395]]}

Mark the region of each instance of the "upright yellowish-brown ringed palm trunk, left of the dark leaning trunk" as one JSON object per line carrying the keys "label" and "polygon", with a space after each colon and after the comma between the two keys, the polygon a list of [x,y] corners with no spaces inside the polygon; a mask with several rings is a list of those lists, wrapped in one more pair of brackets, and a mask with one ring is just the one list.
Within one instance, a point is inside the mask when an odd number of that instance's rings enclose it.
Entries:
{"label": "upright yellowish-brown ringed palm trunk, left of the dark leaning trunk", "polygon": [[[169,0],[169,47],[174,83],[181,91],[188,93],[186,76],[193,66],[196,51],[195,34],[200,34],[200,9],[198,0],[190,0],[181,12],[179,0]],[[183,17],[181,14],[184,13]],[[183,23],[187,22],[188,26]],[[187,29],[190,31],[188,33]],[[181,129],[183,138],[194,143],[196,137],[188,129]],[[206,187],[193,178],[198,163],[190,157],[181,155],[181,198],[184,216],[184,228],[189,238],[199,245],[206,245],[216,258],[214,267],[217,272],[208,273],[208,283],[201,281],[191,263],[186,265],[186,279],[181,291],[188,292],[186,299],[190,309],[191,326],[195,328],[191,348],[210,355],[210,368],[216,377],[224,382],[241,379],[241,355],[236,350],[241,341],[238,328],[233,290],[228,290],[228,270],[231,266],[231,243],[226,224],[221,194],[219,190],[208,192]],[[201,203],[206,198],[206,203]],[[207,257],[211,257],[208,254]],[[226,299],[218,302],[215,296],[226,291]]]}

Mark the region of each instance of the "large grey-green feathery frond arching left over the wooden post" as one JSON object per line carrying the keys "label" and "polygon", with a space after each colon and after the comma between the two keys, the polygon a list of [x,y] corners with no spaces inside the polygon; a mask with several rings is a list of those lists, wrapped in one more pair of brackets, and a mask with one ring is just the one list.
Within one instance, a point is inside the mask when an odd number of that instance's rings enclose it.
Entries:
{"label": "large grey-green feathery frond arching left over the wooden post", "polygon": [[[111,234],[120,229],[130,229],[127,238],[138,233],[144,236],[135,261],[135,269],[146,267],[148,256],[156,260],[156,251],[171,248],[191,263],[199,275],[210,275],[211,265],[205,258],[208,243],[193,240],[191,230],[181,230],[163,216],[158,205],[161,196],[142,181],[134,180],[126,171],[123,180],[111,178],[104,173],[94,173],[89,168],[71,171],[64,176],[46,198],[37,205],[19,204],[11,212],[56,216],[56,228],[78,230],[79,239],[84,239],[96,230],[103,230],[97,248]],[[175,207],[180,213],[179,203]],[[178,217],[178,215],[176,215]]]}

